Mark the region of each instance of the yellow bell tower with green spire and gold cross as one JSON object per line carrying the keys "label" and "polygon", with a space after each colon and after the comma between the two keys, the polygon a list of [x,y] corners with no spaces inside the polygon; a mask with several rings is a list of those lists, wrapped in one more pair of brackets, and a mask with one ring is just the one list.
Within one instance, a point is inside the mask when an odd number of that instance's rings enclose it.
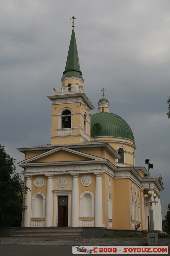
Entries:
{"label": "yellow bell tower with green spire and gold cross", "polygon": [[90,115],[94,109],[90,98],[83,89],[83,77],[80,70],[74,16],[70,46],[60,88],[53,88],[51,145],[74,144],[90,141]]}

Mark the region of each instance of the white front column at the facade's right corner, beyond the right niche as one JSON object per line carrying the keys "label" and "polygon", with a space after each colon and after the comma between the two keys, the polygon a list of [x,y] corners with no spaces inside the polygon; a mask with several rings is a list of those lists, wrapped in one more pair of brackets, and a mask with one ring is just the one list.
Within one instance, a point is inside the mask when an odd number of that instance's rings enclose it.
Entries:
{"label": "white front column at the facade's right corner, beyond the right niche", "polygon": [[102,204],[102,173],[96,173],[95,186],[95,227],[103,227],[103,204]]}

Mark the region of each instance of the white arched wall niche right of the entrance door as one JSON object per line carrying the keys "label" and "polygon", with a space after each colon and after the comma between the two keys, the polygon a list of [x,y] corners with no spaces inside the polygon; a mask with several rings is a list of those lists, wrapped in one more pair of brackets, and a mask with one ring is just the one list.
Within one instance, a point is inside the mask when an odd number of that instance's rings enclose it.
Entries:
{"label": "white arched wall niche right of the entrance door", "polygon": [[80,196],[80,217],[94,218],[94,195],[90,191]]}

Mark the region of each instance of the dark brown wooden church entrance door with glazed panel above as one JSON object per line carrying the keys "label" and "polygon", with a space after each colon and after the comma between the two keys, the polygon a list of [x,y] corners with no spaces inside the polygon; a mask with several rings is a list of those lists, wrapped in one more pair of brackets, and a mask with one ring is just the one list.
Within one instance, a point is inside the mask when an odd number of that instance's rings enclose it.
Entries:
{"label": "dark brown wooden church entrance door with glazed panel above", "polygon": [[68,227],[68,196],[58,197],[58,227]]}

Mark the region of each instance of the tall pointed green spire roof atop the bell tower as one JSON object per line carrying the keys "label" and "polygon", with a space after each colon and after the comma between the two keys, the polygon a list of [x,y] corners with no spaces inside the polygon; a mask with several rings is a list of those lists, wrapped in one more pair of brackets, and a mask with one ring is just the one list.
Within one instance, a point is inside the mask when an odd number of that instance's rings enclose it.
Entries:
{"label": "tall pointed green spire roof atop the bell tower", "polygon": [[76,76],[83,80],[82,72],[80,70],[80,64],[78,60],[78,51],[77,51],[77,44],[76,44],[74,29],[72,30],[72,34],[71,34],[69,52],[68,52],[67,62],[65,66],[65,71],[63,72],[62,79],[69,76]]}

